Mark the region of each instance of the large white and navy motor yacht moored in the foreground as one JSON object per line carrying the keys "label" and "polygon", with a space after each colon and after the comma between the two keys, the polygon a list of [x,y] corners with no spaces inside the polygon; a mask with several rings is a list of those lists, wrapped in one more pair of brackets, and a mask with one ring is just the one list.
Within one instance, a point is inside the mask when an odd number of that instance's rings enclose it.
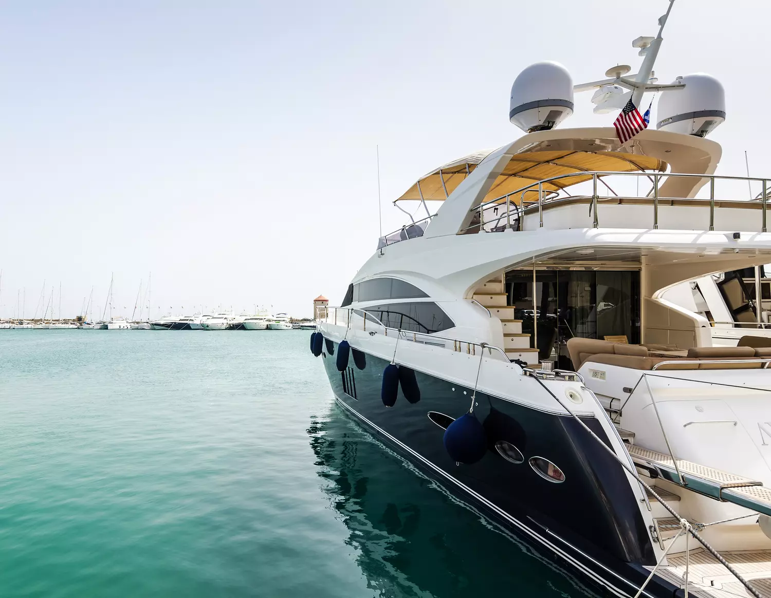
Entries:
{"label": "large white and navy motor yacht moored in the foreground", "polygon": [[[524,69],[524,135],[396,198],[426,218],[379,239],[311,348],[348,415],[608,595],[771,596],[771,342],[713,346],[662,299],[771,261],[771,178],[715,174],[716,79],[654,78],[669,9],[635,74]],[[574,92],[606,126],[561,127]]]}

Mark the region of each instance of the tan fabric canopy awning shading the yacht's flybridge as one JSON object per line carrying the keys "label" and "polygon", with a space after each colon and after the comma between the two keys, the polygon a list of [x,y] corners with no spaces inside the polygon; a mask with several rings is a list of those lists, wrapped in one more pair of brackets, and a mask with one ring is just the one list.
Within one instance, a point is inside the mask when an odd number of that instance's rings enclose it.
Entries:
{"label": "tan fabric canopy awning shading the yacht's flybridge", "polygon": [[[460,183],[466,179],[493,150],[477,152],[447,163],[421,177],[401,200],[445,200]],[[583,150],[562,149],[557,151],[535,151],[517,153],[511,157],[503,173],[498,176],[484,201],[490,201],[507,193],[513,193],[530,183],[569,173],[587,171],[608,171],[628,173],[640,170],[665,172],[667,163],[651,156],[641,156],[623,152],[590,152]],[[566,179],[544,183],[543,189],[557,191],[567,186],[590,180],[588,176],[571,176]],[[537,194],[537,189],[533,190]],[[527,196],[526,196],[527,197]],[[514,203],[520,197],[510,197]]]}

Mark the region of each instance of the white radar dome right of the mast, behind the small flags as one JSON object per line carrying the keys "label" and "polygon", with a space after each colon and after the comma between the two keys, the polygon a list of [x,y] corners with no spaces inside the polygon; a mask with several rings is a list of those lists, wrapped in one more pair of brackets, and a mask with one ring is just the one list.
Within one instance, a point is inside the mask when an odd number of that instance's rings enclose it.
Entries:
{"label": "white radar dome right of the mast, behind the small flags", "polygon": [[685,87],[662,91],[657,129],[705,137],[726,119],[726,92],[715,77],[697,72],[673,83]]}

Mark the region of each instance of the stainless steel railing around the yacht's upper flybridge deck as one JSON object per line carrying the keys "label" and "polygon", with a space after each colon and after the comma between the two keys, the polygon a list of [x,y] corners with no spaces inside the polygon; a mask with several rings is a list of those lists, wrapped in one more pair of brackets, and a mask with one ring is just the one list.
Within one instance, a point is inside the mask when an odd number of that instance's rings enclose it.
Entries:
{"label": "stainless steel railing around the yacht's upper flybridge deck", "polygon": [[[611,186],[608,185],[608,183],[605,182],[604,177],[608,176],[625,176],[625,177],[637,177],[638,180],[640,177],[645,178],[645,180],[648,180],[651,183],[651,189],[648,190],[645,195],[640,195],[639,193],[636,194],[618,194],[615,193],[614,190],[611,189]],[[591,178],[588,178],[591,177]],[[572,184],[581,184],[581,183],[591,183],[591,195],[564,195],[562,196],[561,193],[565,191],[565,187],[561,187],[559,190],[544,188],[544,186],[549,186],[548,183],[553,183],[554,181],[561,181],[561,180],[569,180],[571,178],[581,178],[582,180],[578,183],[572,183]],[[709,198],[686,198],[686,197],[661,197],[659,195],[659,189],[662,184],[663,180],[668,180],[670,178],[695,178],[695,179],[701,179],[706,180],[709,182]],[[756,194],[756,196],[751,197],[749,200],[737,200],[735,198],[732,199],[716,199],[715,198],[715,181],[744,181],[746,183],[749,183],[752,185],[752,183],[759,183],[759,186],[761,187],[761,192]],[[598,193],[598,182],[602,183],[610,192],[611,194],[600,194]],[[487,223],[495,222],[498,226],[496,227],[490,227],[490,230],[493,230],[493,232],[498,230],[508,230],[510,228],[515,228],[512,225],[512,217],[517,222],[517,230],[522,230],[523,223],[524,223],[524,216],[525,213],[530,212],[532,213],[534,211],[534,208],[537,206],[537,213],[538,213],[538,222],[539,227],[544,226],[544,205],[549,205],[551,203],[554,203],[559,200],[586,200],[587,203],[591,206],[590,211],[592,214],[592,227],[598,228],[599,227],[599,217],[598,217],[598,202],[600,200],[611,200],[611,199],[641,199],[641,200],[651,200],[651,206],[652,206],[652,225],[654,229],[658,229],[658,208],[659,208],[659,202],[660,201],[678,201],[678,202],[694,202],[694,205],[698,205],[697,202],[704,202],[709,201],[709,230],[715,230],[715,201],[720,201],[722,203],[725,202],[741,202],[741,203],[749,203],[749,202],[758,202],[760,205],[762,205],[761,210],[761,231],[763,233],[766,232],[766,204],[768,202],[769,198],[769,182],[771,182],[771,179],[763,179],[759,177],[753,177],[753,176],[717,176],[717,175],[707,175],[707,174],[687,174],[687,173],[649,173],[649,172],[631,172],[631,173],[619,173],[619,172],[612,172],[612,171],[590,171],[590,172],[580,172],[580,173],[568,173],[568,174],[561,174],[557,176],[550,176],[546,179],[538,180],[534,183],[530,183],[529,185],[520,187],[517,190],[513,190],[510,193],[506,193],[505,195],[501,195],[499,197],[495,197],[492,200],[487,200],[484,203],[481,203],[479,206],[473,207],[470,211],[472,213],[479,213],[480,221],[478,223],[473,223],[470,227],[466,227],[461,232],[466,232],[469,230],[475,230],[478,228],[478,230],[485,230],[485,212],[486,210],[489,212],[490,209],[493,209],[496,211],[492,216],[488,217]],[[551,186],[558,186],[558,185],[551,185]],[[750,186],[750,190],[752,187]],[[527,201],[525,200],[525,195],[527,193],[537,193],[537,201]],[[519,200],[519,203],[512,201],[512,197],[517,198]],[[505,213],[497,213],[497,209],[501,208],[505,205],[506,211]],[[489,214],[488,214],[489,216]],[[502,227],[500,226],[500,222],[502,220],[506,220],[506,224]]]}

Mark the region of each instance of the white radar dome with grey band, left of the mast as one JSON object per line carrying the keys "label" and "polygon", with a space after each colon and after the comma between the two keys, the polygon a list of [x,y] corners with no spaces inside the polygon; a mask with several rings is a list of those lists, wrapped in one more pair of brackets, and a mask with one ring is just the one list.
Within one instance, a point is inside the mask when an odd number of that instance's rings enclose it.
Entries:
{"label": "white radar dome with grey band, left of the mast", "polygon": [[559,62],[536,62],[514,79],[509,106],[523,131],[551,129],[573,113],[573,79]]}

